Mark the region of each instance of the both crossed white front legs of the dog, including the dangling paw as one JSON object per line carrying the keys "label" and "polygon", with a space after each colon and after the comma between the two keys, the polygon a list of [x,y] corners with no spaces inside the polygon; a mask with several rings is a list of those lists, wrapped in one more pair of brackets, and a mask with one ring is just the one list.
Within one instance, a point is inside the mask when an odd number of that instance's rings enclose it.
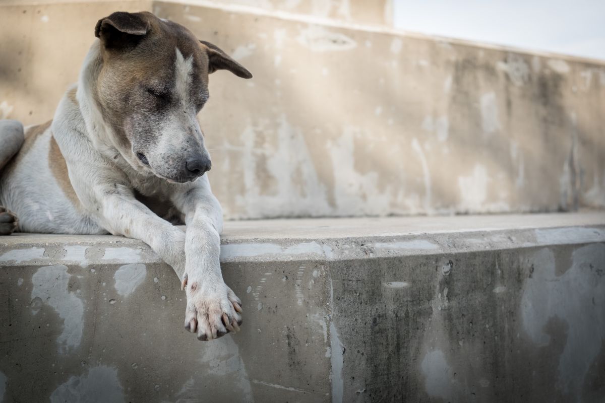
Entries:
{"label": "both crossed white front legs of the dog, including the dangling paw", "polygon": [[[123,189],[103,192],[100,221],[114,234],[140,239],[174,268],[186,286],[186,329],[197,332],[199,340],[212,340],[241,324],[241,300],[225,285],[218,258],[222,222],[220,205],[206,205],[187,214],[188,229],[183,233]],[[192,198],[195,199],[195,198]],[[218,208],[218,214],[217,214]],[[220,218],[222,221],[222,219]]]}

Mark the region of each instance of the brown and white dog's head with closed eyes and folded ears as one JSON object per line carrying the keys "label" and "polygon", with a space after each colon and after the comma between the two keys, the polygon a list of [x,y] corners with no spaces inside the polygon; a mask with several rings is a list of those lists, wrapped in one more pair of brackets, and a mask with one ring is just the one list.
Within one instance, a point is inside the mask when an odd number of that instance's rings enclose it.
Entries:
{"label": "brown and white dog's head with closed eyes and folded ears", "polygon": [[113,13],[94,34],[102,53],[96,103],[126,161],[174,182],[207,172],[211,160],[196,115],[208,100],[208,74],[252,74],[187,28],[151,13]]}

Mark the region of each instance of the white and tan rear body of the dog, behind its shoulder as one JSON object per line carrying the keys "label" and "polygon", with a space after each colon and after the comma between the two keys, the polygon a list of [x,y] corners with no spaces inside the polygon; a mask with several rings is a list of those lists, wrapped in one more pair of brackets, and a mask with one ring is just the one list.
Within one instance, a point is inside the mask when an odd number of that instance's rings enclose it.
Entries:
{"label": "white and tan rear body of the dog, behind its shoulder", "polygon": [[76,208],[67,175],[51,121],[25,130],[18,121],[0,121],[0,235],[103,232]]}

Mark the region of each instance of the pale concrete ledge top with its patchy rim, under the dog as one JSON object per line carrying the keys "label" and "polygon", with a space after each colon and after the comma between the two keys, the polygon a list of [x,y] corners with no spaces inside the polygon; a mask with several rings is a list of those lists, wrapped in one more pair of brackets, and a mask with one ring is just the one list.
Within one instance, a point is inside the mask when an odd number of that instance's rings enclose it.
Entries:
{"label": "pale concrete ledge top with its patchy rim, under the dog", "polygon": [[[227,221],[221,262],[367,259],[605,242],[605,213]],[[185,227],[183,227],[185,230]],[[0,238],[0,263],[163,263],[119,236],[24,234]]]}

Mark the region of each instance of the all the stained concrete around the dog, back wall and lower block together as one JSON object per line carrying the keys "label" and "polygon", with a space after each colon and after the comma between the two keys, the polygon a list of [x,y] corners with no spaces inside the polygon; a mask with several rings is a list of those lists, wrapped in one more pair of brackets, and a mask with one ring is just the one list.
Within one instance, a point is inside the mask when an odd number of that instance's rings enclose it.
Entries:
{"label": "all the stained concrete around the dog, back wall and lower block together", "polygon": [[[390,1],[0,4],[0,118],[51,118],[96,21],[151,10],[255,75],[200,114],[227,218],[605,207],[605,64],[391,30]],[[122,237],[0,239],[0,403],[602,402],[605,214],[227,222],[237,335]]]}

